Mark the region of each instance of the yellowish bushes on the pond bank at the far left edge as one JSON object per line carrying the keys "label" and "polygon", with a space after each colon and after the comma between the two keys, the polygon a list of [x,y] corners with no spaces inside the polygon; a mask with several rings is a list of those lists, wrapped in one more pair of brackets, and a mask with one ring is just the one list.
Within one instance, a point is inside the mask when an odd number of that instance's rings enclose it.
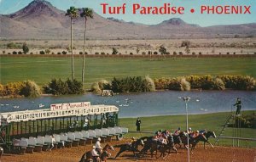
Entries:
{"label": "yellowish bushes on the pond bank at the far left edge", "polygon": [[41,90],[34,81],[17,81],[10,82],[6,85],[0,84],[0,96],[9,97],[38,97]]}

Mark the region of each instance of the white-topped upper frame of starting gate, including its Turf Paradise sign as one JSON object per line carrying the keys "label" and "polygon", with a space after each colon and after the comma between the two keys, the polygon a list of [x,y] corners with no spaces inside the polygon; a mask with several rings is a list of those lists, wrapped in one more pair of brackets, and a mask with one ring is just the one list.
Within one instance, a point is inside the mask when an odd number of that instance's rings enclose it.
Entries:
{"label": "white-topped upper frame of starting gate, including its Turf Paradise sign", "polygon": [[0,145],[9,147],[14,138],[118,126],[119,108],[90,102],[51,104],[50,109],[0,114]]}

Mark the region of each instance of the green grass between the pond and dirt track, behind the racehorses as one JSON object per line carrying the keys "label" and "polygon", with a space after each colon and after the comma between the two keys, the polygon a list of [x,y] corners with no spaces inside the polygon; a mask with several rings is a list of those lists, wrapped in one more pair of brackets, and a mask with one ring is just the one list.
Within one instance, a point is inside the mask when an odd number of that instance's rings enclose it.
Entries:
{"label": "green grass between the pond and dirt track, behind the racehorses", "polygon": [[[243,111],[242,115],[255,114],[256,111]],[[219,136],[219,132],[224,126],[225,120],[230,116],[230,113],[214,113],[207,115],[189,115],[189,127],[192,130],[202,130],[207,129],[209,131],[215,131],[216,136]],[[136,131],[136,118],[124,118],[119,119],[119,126],[128,127],[129,131]],[[125,135],[125,137],[143,137],[143,136],[153,136],[153,133],[158,130],[169,130],[172,133],[181,127],[182,131],[186,130],[186,115],[168,115],[168,116],[153,116],[153,117],[142,117],[141,131],[148,131],[148,133],[131,132]],[[233,120],[230,120],[232,123]],[[223,137],[244,137],[244,138],[256,138],[256,129],[254,128],[240,128],[236,129],[236,136],[233,127],[227,127],[224,130]],[[210,142],[214,144],[216,139],[210,137]],[[237,146],[237,140],[234,141]],[[232,140],[229,139],[219,139],[219,145],[231,146],[233,144]],[[240,141],[240,146],[256,148],[256,141]],[[208,146],[209,147],[209,146]]]}

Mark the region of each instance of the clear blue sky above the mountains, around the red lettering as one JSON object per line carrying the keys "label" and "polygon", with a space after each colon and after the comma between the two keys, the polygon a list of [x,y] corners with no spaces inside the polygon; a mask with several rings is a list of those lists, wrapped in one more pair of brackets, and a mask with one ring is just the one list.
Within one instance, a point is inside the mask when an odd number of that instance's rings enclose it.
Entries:
{"label": "clear blue sky above the mountains, around the red lettering", "polygon": [[[32,0],[0,0],[0,14],[10,14],[24,8]],[[158,24],[163,20],[174,17],[181,18],[189,24],[201,26],[209,25],[233,25],[244,23],[256,23],[256,0],[49,0],[56,8],[66,10],[70,6],[79,8],[93,8],[97,14],[103,17],[114,17],[125,21],[134,21],[143,24]],[[102,14],[101,3],[109,3],[110,6],[120,6],[126,3],[125,14]],[[141,6],[162,6],[164,3],[171,3],[172,6],[183,6],[185,14],[166,14],[166,15],[141,15],[132,14],[131,6],[139,3]],[[250,5],[252,14],[200,14],[201,5]],[[190,8],[195,8],[195,14],[189,13]]]}

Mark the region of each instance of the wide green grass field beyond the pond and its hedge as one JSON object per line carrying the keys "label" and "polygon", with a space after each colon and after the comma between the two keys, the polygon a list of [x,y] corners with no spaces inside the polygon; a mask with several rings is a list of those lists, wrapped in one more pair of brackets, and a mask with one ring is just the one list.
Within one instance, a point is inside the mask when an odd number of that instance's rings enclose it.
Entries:
{"label": "wide green grass field beyond the pond and its hedge", "polygon": [[[75,58],[75,77],[81,81],[82,58]],[[152,78],[182,75],[256,76],[254,58],[88,58],[85,63],[85,87],[94,81],[112,80],[114,76]],[[43,86],[53,78],[71,77],[70,57],[0,57],[1,83],[36,81]]]}

